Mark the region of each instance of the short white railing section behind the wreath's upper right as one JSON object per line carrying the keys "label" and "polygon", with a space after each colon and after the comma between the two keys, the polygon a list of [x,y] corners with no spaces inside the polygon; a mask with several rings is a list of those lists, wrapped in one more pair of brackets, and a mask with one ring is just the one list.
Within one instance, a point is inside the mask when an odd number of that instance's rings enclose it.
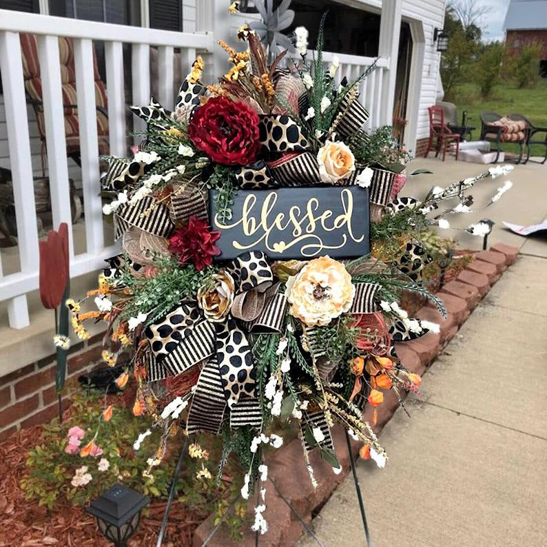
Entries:
{"label": "short white railing section behind the wreath's upper right", "polygon": [[[313,52],[311,53],[313,54]],[[346,76],[349,83],[355,81],[375,61],[373,57],[324,52],[323,65],[325,68],[329,67],[334,56],[337,56],[340,62],[340,67],[334,76],[336,83],[340,83],[344,76]],[[368,131],[375,130],[382,125],[391,125],[392,123],[386,109],[382,106],[384,104],[382,102],[382,89],[388,74],[389,60],[385,57],[380,57],[376,61],[375,70],[359,84],[359,101],[369,111],[369,120],[364,126]]]}

